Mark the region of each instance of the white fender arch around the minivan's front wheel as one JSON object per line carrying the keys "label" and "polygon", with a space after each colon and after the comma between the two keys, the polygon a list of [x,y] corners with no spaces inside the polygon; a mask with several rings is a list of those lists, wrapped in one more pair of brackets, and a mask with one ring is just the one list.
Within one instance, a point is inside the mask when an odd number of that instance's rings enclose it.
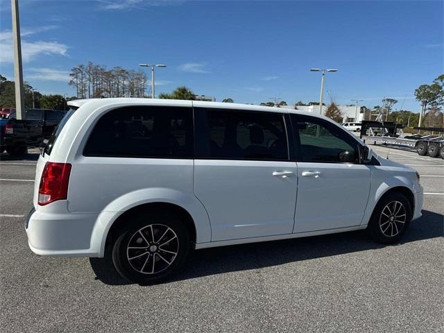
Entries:
{"label": "white fender arch around the minivan's front wheel", "polygon": [[[373,178],[373,174],[372,174]],[[361,225],[368,224],[370,217],[373,214],[373,210],[382,196],[386,194],[387,191],[393,189],[394,187],[405,187],[413,194],[413,183],[406,176],[388,176],[382,178],[381,180],[372,179],[372,186],[370,187],[370,196],[368,197],[368,204],[366,207],[366,212],[364,213],[364,219],[362,219]]]}

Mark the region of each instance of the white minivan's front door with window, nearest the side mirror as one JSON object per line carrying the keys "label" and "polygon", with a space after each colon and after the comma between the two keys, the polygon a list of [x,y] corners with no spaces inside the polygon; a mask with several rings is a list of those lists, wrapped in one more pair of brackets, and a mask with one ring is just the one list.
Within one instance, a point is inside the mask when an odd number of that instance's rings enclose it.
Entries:
{"label": "white minivan's front door with window, nearest the side mirror", "polygon": [[298,151],[293,232],[360,225],[370,193],[370,169],[359,164],[359,143],[329,121],[291,117]]}

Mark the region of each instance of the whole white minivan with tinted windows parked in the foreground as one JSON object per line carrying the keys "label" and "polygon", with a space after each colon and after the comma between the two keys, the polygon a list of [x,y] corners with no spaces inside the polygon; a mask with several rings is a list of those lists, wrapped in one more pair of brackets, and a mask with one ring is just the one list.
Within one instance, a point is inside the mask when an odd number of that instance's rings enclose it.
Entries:
{"label": "whole white minivan with tinted windows parked in the foreground", "polygon": [[37,255],[103,257],[142,284],[189,250],[368,230],[421,216],[413,169],[323,116],[162,99],[69,102],[42,149],[26,219]]}

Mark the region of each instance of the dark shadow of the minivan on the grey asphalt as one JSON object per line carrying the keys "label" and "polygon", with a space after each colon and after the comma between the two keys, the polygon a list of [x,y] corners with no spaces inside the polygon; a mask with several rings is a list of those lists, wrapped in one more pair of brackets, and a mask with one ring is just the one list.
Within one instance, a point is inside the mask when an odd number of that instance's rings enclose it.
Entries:
{"label": "dark shadow of the minivan on the grey asphalt", "polygon": [[[413,221],[407,233],[397,246],[411,241],[443,237],[444,216],[427,210],[422,210],[422,217]],[[316,237],[287,239],[283,241],[268,241],[221,248],[196,250],[182,271],[173,275],[167,282],[199,278],[206,275],[258,269],[278,266],[289,262],[299,262],[307,259],[330,257],[357,251],[384,248],[370,239],[366,232],[343,232]],[[107,249],[105,258],[90,258],[96,280],[110,285],[132,284],[121,278],[115,270]]]}

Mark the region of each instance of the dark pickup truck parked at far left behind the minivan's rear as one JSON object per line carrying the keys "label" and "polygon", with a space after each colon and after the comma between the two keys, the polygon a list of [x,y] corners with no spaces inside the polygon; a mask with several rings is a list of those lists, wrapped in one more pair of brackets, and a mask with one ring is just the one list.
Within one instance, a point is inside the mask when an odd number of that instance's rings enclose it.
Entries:
{"label": "dark pickup truck parked at far left behind the minivan's rear", "polygon": [[15,111],[8,118],[0,119],[0,153],[26,155],[28,146],[38,147],[48,139],[54,128],[65,116],[65,111],[27,109],[23,119],[16,119]]}

